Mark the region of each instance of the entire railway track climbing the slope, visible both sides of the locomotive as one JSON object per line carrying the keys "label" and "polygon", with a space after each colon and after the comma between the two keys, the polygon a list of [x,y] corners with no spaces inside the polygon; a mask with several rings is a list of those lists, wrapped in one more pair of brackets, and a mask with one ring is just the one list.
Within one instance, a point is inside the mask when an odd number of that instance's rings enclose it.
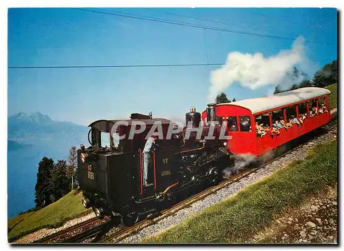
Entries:
{"label": "entire railway track climbing the slope, visible both sides of the locomotive", "polygon": [[[329,124],[324,126],[324,128],[327,131],[331,130],[332,128],[334,128],[334,126],[336,126],[336,110],[333,112],[331,111],[331,113],[334,115],[332,121]],[[100,239],[100,241],[98,242],[117,243],[118,241],[121,241],[122,239],[125,239],[131,236],[132,234],[135,234],[136,232],[139,232],[140,230],[147,228],[149,225],[153,225],[157,223],[158,221],[161,221],[162,219],[169,217],[172,214],[175,214],[175,212],[178,212],[179,210],[182,210],[183,208],[189,207],[196,201],[200,201],[204,199],[208,195],[213,194],[214,192],[217,192],[218,190],[222,188],[225,188],[231,183],[235,183],[239,181],[240,179],[248,176],[249,174],[252,174],[253,172],[257,172],[257,170],[266,167],[266,165],[272,163],[272,161],[276,161],[277,159],[280,159],[286,156],[286,154],[289,154],[293,150],[301,148],[303,145],[305,145],[312,139],[314,139],[314,137],[306,140],[305,142],[301,143],[297,147],[292,148],[291,150],[288,150],[287,152],[279,155],[278,157],[265,162],[263,165],[259,166],[259,168],[249,168],[246,170],[241,170],[237,174],[230,176],[228,179],[222,181],[218,185],[215,185],[211,188],[203,190],[202,192],[194,194],[192,197],[189,197],[188,199],[173,205],[172,208],[163,210],[162,212],[160,212],[160,215],[158,215],[158,217],[155,217],[153,219],[144,219],[143,221],[140,221],[131,227],[122,228],[118,230],[118,232],[115,232],[114,234],[110,234],[108,237],[105,237],[104,239]],[[50,236],[44,237],[43,239],[40,239],[39,241],[35,241],[34,243],[80,243],[81,241],[85,241],[87,239],[92,239],[96,237],[97,234],[102,231],[102,228],[107,222],[109,221],[92,218],[87,221],[84,221],[83,223],[74,225],[70,228],[66,228],[65,230],[61,230],[59,232],[56,232],[55,234],[51,234]],[[93,226],[93,225],[96,225],[96,226],[89,228],[90,226]],[[79,232],[79,233],[70,234],[71,232]]]}

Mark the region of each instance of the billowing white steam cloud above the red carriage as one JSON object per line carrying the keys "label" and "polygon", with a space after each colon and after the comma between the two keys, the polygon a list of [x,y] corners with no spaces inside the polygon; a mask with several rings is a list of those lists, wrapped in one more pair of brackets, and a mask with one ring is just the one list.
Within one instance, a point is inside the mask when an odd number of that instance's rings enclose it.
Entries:
{"label": "billowing white steam cloud above the red carriage", "polygon": [[308,61],[304,42],[303,37],[298,37],[290,50],[281,50],[271,57],[264,57],[261,53],[230,52],[226,64],[211,72],[208,101],[214,102],[217,94],[235,82],[251,90],[272,84],[282,89],[292,86],[296,80],[290,71],[296,64]]}

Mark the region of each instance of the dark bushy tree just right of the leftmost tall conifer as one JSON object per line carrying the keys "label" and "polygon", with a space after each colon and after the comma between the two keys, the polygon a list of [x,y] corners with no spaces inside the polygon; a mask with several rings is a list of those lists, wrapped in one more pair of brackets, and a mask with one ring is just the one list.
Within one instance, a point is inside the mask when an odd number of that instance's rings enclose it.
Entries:
{"label": "dark bushy tree just right of the leftmost tall conifer", "polygon": [[49,188],[52,201],[57,201],[69,192],[67,161],[65,159],[57,161],[54,168],[52,168]]}

